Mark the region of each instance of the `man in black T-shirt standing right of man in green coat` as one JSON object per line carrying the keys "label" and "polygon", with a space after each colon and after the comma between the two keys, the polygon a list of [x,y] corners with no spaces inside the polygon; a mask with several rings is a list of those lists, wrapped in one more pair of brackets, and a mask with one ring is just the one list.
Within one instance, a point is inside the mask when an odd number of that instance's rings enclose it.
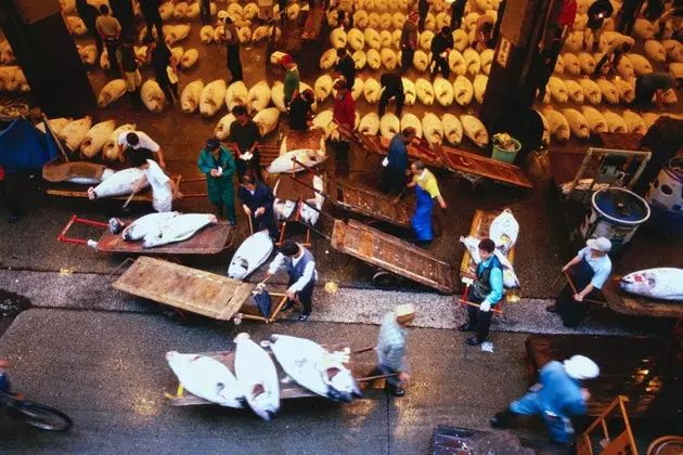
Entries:
{"label": "man in black T-shirt standing right of man in green coat", "polygon": [[233,107],[232,115],[235,116],[235,121],[230,125],[230,141],[235,152],[237,179],[242,181],[244,174],[249,172],[255,180],[262,182],[261,156],[258,153],[261,133],[254,120],[247,118],[244,106]]}

